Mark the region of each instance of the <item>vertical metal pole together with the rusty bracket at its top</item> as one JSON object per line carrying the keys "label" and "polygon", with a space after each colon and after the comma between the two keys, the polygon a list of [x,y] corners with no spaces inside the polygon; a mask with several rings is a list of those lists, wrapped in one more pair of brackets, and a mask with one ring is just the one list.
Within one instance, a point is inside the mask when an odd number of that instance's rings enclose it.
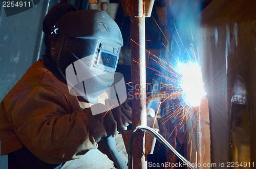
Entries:
{"label": "vertical metal pole together with the rusty bracket at its top", "polygon": [[[133,129],[146,126],[145,17],[151,16],[154,0],[122,0],[124,14],[131,17],[131,60]],[[145,132],[139,131],[133,144],[133,168],[147,168]]]}

